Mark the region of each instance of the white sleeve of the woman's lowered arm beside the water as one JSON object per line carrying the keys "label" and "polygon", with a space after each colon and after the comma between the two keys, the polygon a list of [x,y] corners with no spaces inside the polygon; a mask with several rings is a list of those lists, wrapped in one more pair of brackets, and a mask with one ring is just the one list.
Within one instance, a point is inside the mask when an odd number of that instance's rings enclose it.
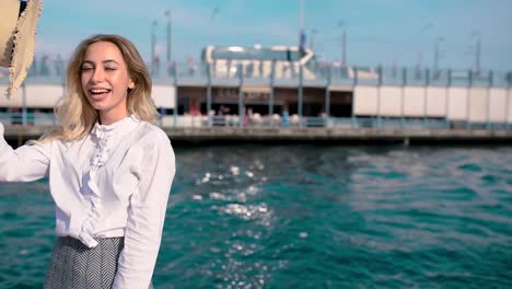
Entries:
{"label": "white sleeve of the woman's lowered arm beside the water", "polygon": [[139,185],[130,198],[125,247],[113,288],[149,288],[160,248],[175,158],[163,131],[148,135],[150,141],[139,148]]}

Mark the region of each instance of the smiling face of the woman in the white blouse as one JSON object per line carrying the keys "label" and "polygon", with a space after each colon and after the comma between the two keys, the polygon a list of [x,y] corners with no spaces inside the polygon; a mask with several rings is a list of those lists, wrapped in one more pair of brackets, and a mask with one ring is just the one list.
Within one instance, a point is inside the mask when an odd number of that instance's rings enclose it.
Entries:
{"label": "smiling face of the woman in the white blouse", "polygon": [[91,44],[81,67],[82,90],[98,111],[102,125],[128,116],[126,97],[135,83],[117,46],[109,42]]}

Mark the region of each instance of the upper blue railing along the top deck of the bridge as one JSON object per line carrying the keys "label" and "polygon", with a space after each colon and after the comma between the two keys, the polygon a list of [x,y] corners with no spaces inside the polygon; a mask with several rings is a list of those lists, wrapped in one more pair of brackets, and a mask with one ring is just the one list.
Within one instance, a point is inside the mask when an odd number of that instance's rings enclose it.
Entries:
{"label": "upper blue railing along the top deck of the bridge", "polygon": [[[172,62],[152,71],[155,84],[175,84],[179,81],[208,80],[259,80],[263,82],[299,81],[328,84],[365,84],[365,85],[433,85],[433,86],[512,86],[512,71],[489,70],[431,70],[418,68],[384,68],[361,66],[336,66],[331,63],[312,63],[300,69],[295,62],[253,61],[230,63]],[[1,72],[1,71],[0,71]],[[27,83],[59,84],[63,83],[62,69],[47,68],[44,71],[30,71]],[[0,73],[0,84],[8,82],[8,73]]]}

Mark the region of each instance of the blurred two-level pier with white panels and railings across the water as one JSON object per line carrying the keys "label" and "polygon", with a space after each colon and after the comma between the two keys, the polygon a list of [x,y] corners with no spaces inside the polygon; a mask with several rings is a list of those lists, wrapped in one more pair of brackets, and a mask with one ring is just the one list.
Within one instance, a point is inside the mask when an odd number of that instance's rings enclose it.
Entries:
{"label": "blurred two-level pier with white panels and railings across the water", "polygon": [[[512,142],[511,71],[336,66],[279,49],[212,47],[217,59],[156,70],[158,125],[175,143]],[[30,76],[14,101],[0,99],[11,143],[57,125],[63,81]]]}

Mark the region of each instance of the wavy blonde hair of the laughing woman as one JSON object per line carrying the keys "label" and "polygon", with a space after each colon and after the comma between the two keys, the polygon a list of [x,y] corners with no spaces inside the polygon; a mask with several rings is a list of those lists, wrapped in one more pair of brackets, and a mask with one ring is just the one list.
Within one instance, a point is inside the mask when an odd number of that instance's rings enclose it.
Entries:
{"label": "wavy blonde hair of the laughing woman", "polygon": [[151,97],[151,77],[142,57],[135,45],[119,35],[98,34],[82,41],[75,48],[66,74],[66,92],[55,114],[61,127],[43,137],[43,141],[59,139],[71,141],[84,138],[100,120],[98,112],[89,103],[82,90],[82,62],[89,46],[98,42],[108,42],[119,48],[126,62],[128,74],[135,83],[128,90],[127,109],[139,119],[155,123],[158,112]]}

